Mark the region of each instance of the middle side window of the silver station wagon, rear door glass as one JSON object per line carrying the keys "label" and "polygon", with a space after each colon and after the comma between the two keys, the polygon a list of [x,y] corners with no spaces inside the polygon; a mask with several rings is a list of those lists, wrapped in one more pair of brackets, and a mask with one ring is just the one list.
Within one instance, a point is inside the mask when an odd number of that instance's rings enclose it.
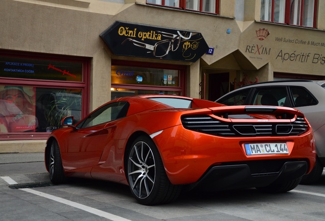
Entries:
{"label": "middle side window of the silver station wagon, rear door glass", "polygon": [[251,105],[271,105],[290,107],[285,86],[259,87],[253,94]]}

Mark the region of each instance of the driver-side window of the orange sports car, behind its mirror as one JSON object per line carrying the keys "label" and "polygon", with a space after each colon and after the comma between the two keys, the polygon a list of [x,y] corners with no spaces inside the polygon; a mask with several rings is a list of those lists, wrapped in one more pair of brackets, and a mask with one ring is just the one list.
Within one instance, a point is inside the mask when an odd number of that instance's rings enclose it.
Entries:
{"label": "driver-side window of the orange sports car, behind its mirror", "polygon": [[127,115],[128,108],[128,102],[115,102],[105,105],[89,115],[83,122],[78,124],[77,128],[80,129],[96,126],[125,117]]}

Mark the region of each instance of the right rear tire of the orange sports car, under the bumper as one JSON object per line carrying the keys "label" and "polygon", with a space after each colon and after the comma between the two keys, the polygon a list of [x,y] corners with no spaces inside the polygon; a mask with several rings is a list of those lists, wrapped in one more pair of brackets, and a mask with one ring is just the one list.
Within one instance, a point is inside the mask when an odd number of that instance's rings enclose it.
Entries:
{"label": "right rear tire of the orange sports car, under the bumper", "polygon": [[266,187],[257,187],[257,189],[262,192],[267,192],[267,193],[283,193],[283,192],[288,192],[288,191],[296,188],[296,186],[298,186],[300,181],[301,181],[301,178],[298,178],[295,180],[286,181],[286,182],[282,182],[282,183],[273,183]]}

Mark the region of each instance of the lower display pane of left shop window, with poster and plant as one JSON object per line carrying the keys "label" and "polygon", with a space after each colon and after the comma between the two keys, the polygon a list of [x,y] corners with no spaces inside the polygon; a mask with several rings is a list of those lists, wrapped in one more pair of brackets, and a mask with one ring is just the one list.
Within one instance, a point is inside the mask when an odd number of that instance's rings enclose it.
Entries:
{"label": "lower display pane of left shop window, with poster and plant", "polygon": [[63,117],[81,120],[81,90],[0,85],[3,132],[51,132]]}

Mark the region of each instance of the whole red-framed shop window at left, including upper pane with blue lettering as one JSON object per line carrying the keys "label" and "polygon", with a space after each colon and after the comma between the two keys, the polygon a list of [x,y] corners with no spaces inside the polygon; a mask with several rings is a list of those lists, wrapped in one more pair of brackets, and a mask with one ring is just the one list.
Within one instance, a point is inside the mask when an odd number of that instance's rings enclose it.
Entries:
{"label": "whole red-framed shop window at left, including upper pane with blue lettering", "polygon": [[0,52],[0,140],[44,139],[63,117],[88,112],[88,59],[33,56]]}

